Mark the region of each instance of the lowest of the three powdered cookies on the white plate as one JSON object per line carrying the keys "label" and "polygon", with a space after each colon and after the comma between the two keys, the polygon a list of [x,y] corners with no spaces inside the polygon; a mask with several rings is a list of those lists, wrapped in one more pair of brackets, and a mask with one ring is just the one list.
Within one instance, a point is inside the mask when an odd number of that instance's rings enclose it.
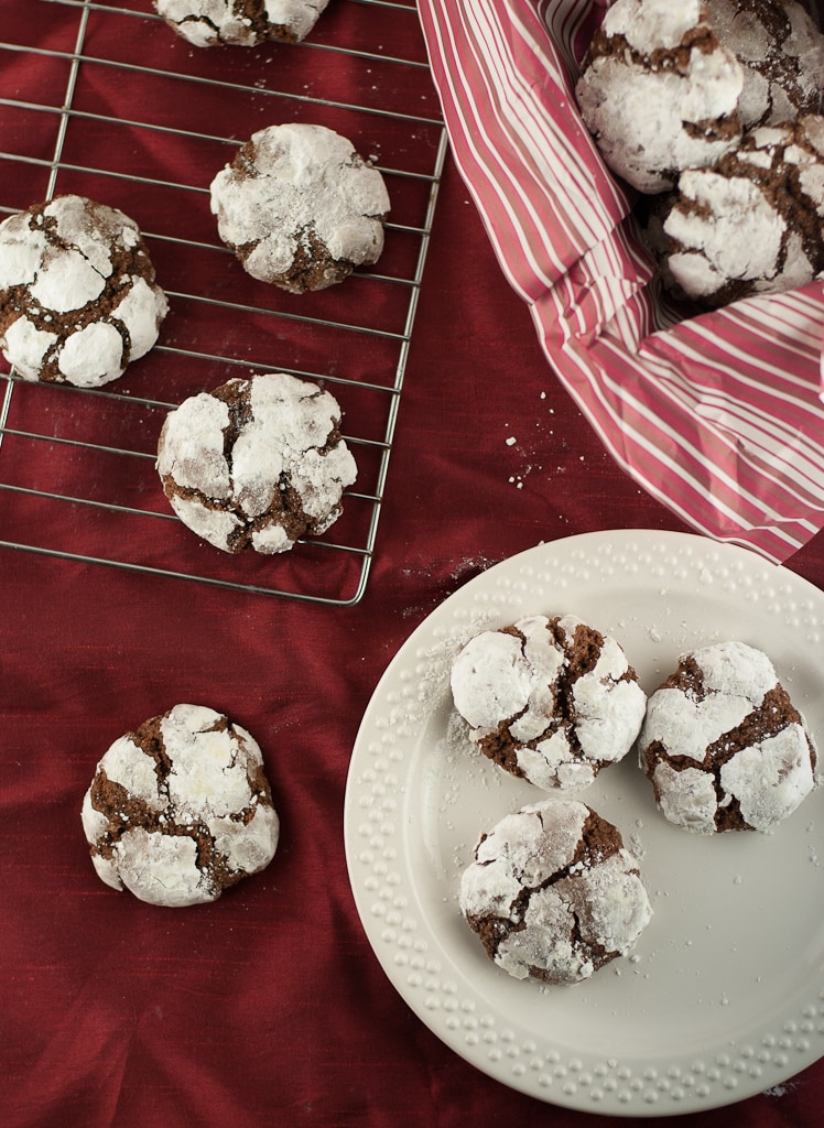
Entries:
{"label": "lowest of the three powdered cookies on the white plate", "polygon": [[525,807],[483,835],[459,902],[499,968],[559,985],[626,955],[652,916],[621,832],[570,799]]}

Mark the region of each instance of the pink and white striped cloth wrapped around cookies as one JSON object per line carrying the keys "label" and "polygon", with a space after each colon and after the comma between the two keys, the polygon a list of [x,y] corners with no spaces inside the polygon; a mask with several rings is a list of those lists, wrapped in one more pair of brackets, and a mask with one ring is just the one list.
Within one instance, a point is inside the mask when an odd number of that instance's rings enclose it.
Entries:
{"label": "pink and white striped cloth wrapped around cookies", "polygon": [[691,526],[782,562],[824,527],[824,288],[680,323],[575,103],[603,0],[419,0],[458,168],[558,377]]}

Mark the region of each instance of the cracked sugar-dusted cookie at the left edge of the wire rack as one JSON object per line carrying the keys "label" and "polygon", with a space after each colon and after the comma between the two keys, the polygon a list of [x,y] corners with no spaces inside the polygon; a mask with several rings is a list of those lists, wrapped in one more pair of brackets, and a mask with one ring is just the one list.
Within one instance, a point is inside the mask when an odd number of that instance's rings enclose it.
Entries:
{"label": "cracked sugar-dusted cookie at the left edge of the wire rack", "polygon": [[115,380],[167,309],[138,224],[116,208],[56,196],[0,223],[0,350],[24,379]]}

